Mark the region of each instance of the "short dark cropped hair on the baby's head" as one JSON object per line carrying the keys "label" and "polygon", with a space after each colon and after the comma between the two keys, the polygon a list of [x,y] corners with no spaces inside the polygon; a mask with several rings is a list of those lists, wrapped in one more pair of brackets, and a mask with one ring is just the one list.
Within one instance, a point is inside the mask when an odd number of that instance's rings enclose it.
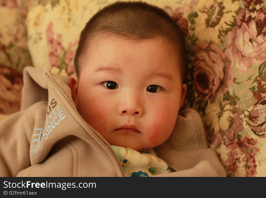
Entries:
{"label": "short dark cropped hair on the baby's head", "polygon": [[98,11],[80,34],[74,59],[79,77],[79,60],[94,36],[114,33],[129,39],[162,37],[174,43],[180,53],[182,81],[187,73],[186,45],[182,30],[161,8],[144,2],[115,2]]}

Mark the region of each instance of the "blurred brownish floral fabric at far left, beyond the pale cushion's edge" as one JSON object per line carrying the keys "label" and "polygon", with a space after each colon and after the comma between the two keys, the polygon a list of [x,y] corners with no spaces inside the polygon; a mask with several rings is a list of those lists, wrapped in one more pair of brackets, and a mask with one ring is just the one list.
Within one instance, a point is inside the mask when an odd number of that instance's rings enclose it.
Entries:
{"label": "blurred brownish floral fabric at far left, beyond the pale cushion's edge", "polygon": [[15,0],[0,2],[0,121],[20,110],[22,71],[32,65],[26,28]]}

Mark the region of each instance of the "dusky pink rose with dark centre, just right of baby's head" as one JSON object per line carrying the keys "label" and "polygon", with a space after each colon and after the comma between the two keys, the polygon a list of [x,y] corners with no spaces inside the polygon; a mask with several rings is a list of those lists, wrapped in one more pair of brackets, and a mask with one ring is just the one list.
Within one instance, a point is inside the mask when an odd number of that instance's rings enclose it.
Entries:
{"label": "dusky pink rose with dark centre, just right of baby's head", "polygon": [[214,43],[198,42],[194,49],[191,78],[201,99],[214,102],[233,82],[232,67],[225,53]]}

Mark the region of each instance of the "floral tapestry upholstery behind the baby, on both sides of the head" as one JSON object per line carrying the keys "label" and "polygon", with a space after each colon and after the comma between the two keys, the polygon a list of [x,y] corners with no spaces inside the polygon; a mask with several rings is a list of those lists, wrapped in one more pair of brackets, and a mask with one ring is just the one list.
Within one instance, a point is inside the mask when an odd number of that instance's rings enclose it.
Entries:
{"label": "floral tapestry upholstery behind the baby, on both sides of the head", "polygon": [[[0,16],[12,16],[0,28],[4,116],[19,110],[26,65],[65,76],[75,72],[79,33],[93,14],[115,1],[0,2]],[[183,108],[200,113],[208,145],[227,175],[266,176],[266,1],[144,2],[163,8],[186,35],[189,91]]]}

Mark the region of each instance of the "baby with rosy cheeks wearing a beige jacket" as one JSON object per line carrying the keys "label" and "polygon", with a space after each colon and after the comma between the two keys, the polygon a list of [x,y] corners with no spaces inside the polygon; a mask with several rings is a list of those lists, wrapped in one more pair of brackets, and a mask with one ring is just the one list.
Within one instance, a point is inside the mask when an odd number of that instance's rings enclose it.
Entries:
{"label": "baby with rosy cheeks wearing a beige jacket", "polygon": [[185,40],[162,9],[105,7],[75,67],[66,81],[25,68],[22,111],[0,123],[0,176],[225,176],[200,116],[179,115]]}

